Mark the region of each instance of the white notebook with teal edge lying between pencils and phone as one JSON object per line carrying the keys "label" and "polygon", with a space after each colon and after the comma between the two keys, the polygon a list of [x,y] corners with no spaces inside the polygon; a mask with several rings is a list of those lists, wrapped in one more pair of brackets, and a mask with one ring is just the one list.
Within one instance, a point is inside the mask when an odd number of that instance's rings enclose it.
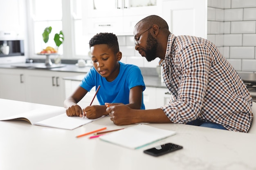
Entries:
{"label": "white notebook with teal edge lying between pencils and phone", "polygon": [[138,124],[116,132],[102,135],[99,138],[103,141],[137,149],[155,141],[159,141],[175,134],[175,131],[154,128],[145,124]]}

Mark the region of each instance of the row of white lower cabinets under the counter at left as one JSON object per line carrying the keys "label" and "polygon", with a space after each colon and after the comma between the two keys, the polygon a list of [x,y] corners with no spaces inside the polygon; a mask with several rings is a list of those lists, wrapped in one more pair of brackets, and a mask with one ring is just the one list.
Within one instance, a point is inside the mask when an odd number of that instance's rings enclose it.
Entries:
{"label": "row of white lower cabinets under the counter at left", "polygon": [[0,98],[63,106],[63,77],[82,74],[85,73],[0,68]]}

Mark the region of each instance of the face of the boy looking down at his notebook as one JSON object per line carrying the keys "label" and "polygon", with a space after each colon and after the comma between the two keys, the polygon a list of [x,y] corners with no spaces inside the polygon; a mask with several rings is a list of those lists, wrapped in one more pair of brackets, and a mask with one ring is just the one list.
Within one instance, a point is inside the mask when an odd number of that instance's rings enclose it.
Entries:
{"label": "face of the boy looking down at his notebook", "polygon": [[92,63],[96,71],[112,82],[119,73],[118,61],[121,60],[122,53],[114,53],[107,44],[98,44],[90,48]]}

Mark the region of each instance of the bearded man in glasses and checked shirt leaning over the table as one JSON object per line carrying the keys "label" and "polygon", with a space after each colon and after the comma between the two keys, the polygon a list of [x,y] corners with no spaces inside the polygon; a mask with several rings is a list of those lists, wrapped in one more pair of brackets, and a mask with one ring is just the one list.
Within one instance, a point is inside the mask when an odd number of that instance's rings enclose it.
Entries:
{"label": "bearded man in glasses and checked shirt leaning over the table", "polygon": [[134,35],[135,49],[141,56],[148,61],[161,59],[164,82],[172,95],[169,104],[150,110],[106,104],[115,124],[180,123],[249,130],[252,97],[213,43],[194,36],[175,36],[157,15],[139,21]]}

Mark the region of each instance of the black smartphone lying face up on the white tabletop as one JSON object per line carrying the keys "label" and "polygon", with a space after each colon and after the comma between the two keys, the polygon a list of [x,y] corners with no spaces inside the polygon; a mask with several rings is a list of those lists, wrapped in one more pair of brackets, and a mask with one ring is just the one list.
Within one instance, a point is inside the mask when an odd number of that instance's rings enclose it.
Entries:
{"label": "black smartphone lying face up on the white tabletop", "polygon": [[167,144],[159,145],[155,148],[150,148],[150,149],[144,150],[143,152],[146,154],[158,157],[160,155],[164,155],[166,153],[173,152],[175,150],[179,150],[182,148],[183,147],[180,145],[167,143]]}

